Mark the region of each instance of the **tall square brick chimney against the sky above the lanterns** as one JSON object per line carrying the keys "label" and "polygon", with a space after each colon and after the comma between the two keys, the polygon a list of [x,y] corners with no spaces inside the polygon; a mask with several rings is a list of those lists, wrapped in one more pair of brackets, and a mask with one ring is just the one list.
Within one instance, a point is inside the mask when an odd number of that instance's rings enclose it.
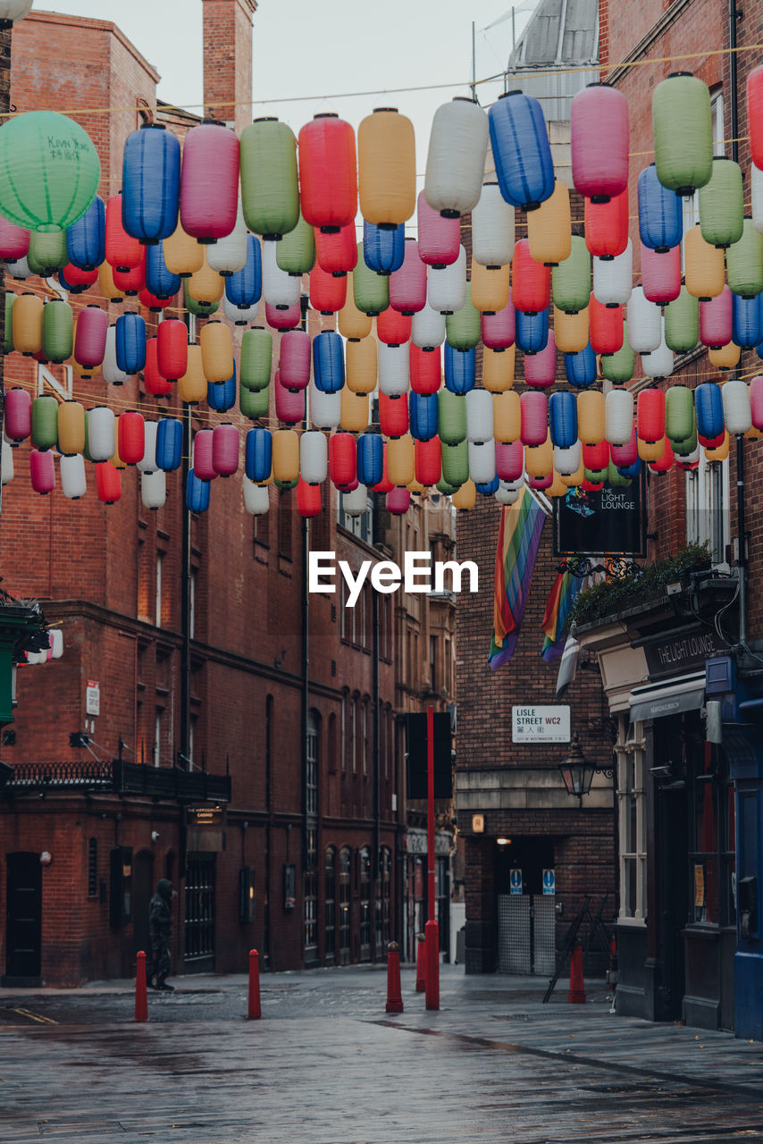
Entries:
{"label": "tall square brick chimney against the sky above the lanterns", "polygon": [[252,122],[252,17],[257,0],[204,3],[204,113],[240,133]]}

